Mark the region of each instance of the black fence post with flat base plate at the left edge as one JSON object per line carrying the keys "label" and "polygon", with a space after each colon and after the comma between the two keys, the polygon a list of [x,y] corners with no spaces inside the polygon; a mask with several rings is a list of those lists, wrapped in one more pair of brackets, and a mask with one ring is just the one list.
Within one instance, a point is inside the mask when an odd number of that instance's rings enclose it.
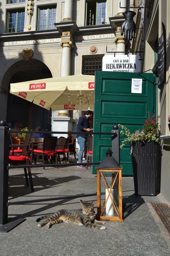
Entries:
{"label": "black fence post with flat base plate at the left edge", "polygon": [[9,155],[9,127],[6,121],[0,121],[0,232],[8,232],[25,219],[18,219],[8,223],[8,155]]}

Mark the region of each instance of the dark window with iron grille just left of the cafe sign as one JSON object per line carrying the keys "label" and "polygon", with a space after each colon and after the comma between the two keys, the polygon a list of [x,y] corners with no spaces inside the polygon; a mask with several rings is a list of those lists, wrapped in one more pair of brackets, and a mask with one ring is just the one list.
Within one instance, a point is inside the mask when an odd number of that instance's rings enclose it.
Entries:
{"label": "dark window with iron grille just left of the cafe sign", "polygon": [[102,58],[104,55],[82,57],[82,74],[94,75],[95,70],[102,71]]}

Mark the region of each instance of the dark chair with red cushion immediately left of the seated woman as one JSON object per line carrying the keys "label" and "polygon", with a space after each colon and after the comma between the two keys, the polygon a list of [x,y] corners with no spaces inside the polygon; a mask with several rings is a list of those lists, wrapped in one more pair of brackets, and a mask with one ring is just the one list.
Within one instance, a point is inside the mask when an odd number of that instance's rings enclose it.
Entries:
{"label": "dark chair with red cushion immediately left of the seated woman", "polygon": [[61,163],[60,155],[63,155],[65,163],[67,163],[67,159],[66,159],[66,155],[65,155],[66,153],[67,153],[67,158],[68,158],[68,154],[69,154],[68,139],[60,137],[58,139],[57,150],[56,150],[57,159],[59,160],[59,163]]}

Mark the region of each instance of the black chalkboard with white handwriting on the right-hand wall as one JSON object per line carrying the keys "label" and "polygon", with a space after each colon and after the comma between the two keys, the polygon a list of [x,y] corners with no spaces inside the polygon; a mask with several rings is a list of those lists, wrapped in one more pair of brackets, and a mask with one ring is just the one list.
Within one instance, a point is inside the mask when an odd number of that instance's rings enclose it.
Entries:
{"label": "black chalkboard with white handwriting on the right-hand wall", "polygon": [[163,33],[158,39],[158,86],[163,83],[165,79],[165,26],[162,23]]}

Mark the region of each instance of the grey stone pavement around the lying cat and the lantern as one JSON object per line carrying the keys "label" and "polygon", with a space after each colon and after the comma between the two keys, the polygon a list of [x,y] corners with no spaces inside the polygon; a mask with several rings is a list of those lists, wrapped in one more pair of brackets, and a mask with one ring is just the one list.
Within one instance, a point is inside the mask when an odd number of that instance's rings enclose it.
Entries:
{"label": "grey stone pavement around the lying cat and the lantern", "polygon": [[[79,209],[80,199],[95,200],[96,175],[91,169],[75,167],[32,169],[35,191],[25,186],[23,169],[9,171],[9,199],[34,200],[82,194],[76,199],[60,199],[29,204],[10,205],[9,218],[26,220],[9,233],[0,233],[0,256],[167,256],[170,255],[170,235],[150,202],[168,203],[156,197],[134,195],[133,177],[123,177],[123,204],[131,203],[124,222],[106,222],[106,230],[90,229],[75,224],[60,223],[52,228],[38,228],[36,219],[56,210]],[[85,194],[94,194],[85,196]]]}

